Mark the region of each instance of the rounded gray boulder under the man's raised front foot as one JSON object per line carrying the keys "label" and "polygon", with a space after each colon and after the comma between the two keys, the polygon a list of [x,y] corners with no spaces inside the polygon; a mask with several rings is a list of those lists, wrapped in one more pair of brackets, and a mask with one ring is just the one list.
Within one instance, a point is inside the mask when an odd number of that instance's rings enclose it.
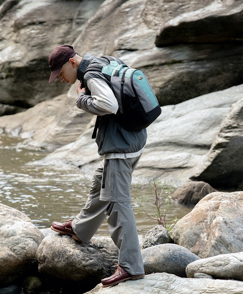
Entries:
{"label": "rounded gray boulder under the man's raised front foot", "polygon": [[45,237],[37,251],[39,272],[45,278],[97,285],[114,273],[118,249],[111,238],[78,242],[70,235]]}

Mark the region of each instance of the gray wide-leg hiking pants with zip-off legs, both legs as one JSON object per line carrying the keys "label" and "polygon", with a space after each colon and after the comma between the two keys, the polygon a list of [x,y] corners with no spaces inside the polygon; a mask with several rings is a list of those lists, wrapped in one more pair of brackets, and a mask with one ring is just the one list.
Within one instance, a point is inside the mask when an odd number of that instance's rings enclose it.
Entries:
{"label": "gray wide-leg hiking pants with zip-off legs, both legs", "polygon": [[[103,161],[94,171],[85,207],[72,221],[75,234],[88,242],[107,218],[110,236],[119,249],[118,264],[131,275],[144,274],[130,194],[131,174],[140,157],[109,159],[105,188],[101,188]],[[107,201],[100,200],[100,196]]]}

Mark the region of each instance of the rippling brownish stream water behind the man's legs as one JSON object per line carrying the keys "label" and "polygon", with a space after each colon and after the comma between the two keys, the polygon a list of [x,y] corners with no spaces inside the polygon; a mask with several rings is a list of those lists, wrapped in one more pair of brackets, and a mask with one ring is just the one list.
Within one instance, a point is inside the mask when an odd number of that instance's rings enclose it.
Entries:
{"label": "rippling brownish stream water behind the man's legs", "polygon": [[[40,229],[49,228],[53,220],[66,220],[79,213],[85,205],[91,182],[82,179],[78,168],[66,171],[26,165],[48,153],[19,148],[18,142],[9,136],[0,137],[0,203],[25,213]],[[145,194],[153,200],[151,186],[139,184],[139,196]],[[139,212],[136,186],[131,187],[131,196],[138,232],[145,234],[157,222],[143,211]],[[146,201],[143,207],[149,216],[155,216],[155,207],[151,203]],[[190,211],[191,208],[171,203],[166,221],[169,224]],[[106,222],[97,235],[109,235]]]}

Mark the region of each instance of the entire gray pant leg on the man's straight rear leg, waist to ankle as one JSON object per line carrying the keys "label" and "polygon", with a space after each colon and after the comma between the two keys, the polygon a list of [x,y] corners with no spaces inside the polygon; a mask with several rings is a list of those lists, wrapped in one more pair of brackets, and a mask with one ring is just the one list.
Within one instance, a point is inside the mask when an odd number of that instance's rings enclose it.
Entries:
{"label": "entire gray pant leg on the man's straight rear leg, waist to ankle", "polygon": [[[131,174],[138,163],[136,158],[115,159],[108,166],[107,182],[114,182],[111,204],[106,213],[112,240],[119,248],[119,265],[131,275],[144,274],[135,216],[131,207]],[[113,171],[111,170],[113,168]],[[112,185],[111,185],[112,186]]]}

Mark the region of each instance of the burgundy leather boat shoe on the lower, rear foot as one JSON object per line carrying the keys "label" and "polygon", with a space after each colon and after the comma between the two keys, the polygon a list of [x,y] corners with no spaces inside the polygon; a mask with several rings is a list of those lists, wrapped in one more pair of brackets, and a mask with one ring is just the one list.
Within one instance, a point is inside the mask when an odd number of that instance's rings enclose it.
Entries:
{"label": "burgundy leather boat shoe on the lower, rear foot", "polygon": [[115,263],[115,265],[117,265],[117,269],[115,270],[114,274],[101,280],[102,288],[113,286],[126,280],[139,280],[145,277],[144,274],[133,276],[124,270],[124,268],[120,267],[120,265],[117,263]]}

